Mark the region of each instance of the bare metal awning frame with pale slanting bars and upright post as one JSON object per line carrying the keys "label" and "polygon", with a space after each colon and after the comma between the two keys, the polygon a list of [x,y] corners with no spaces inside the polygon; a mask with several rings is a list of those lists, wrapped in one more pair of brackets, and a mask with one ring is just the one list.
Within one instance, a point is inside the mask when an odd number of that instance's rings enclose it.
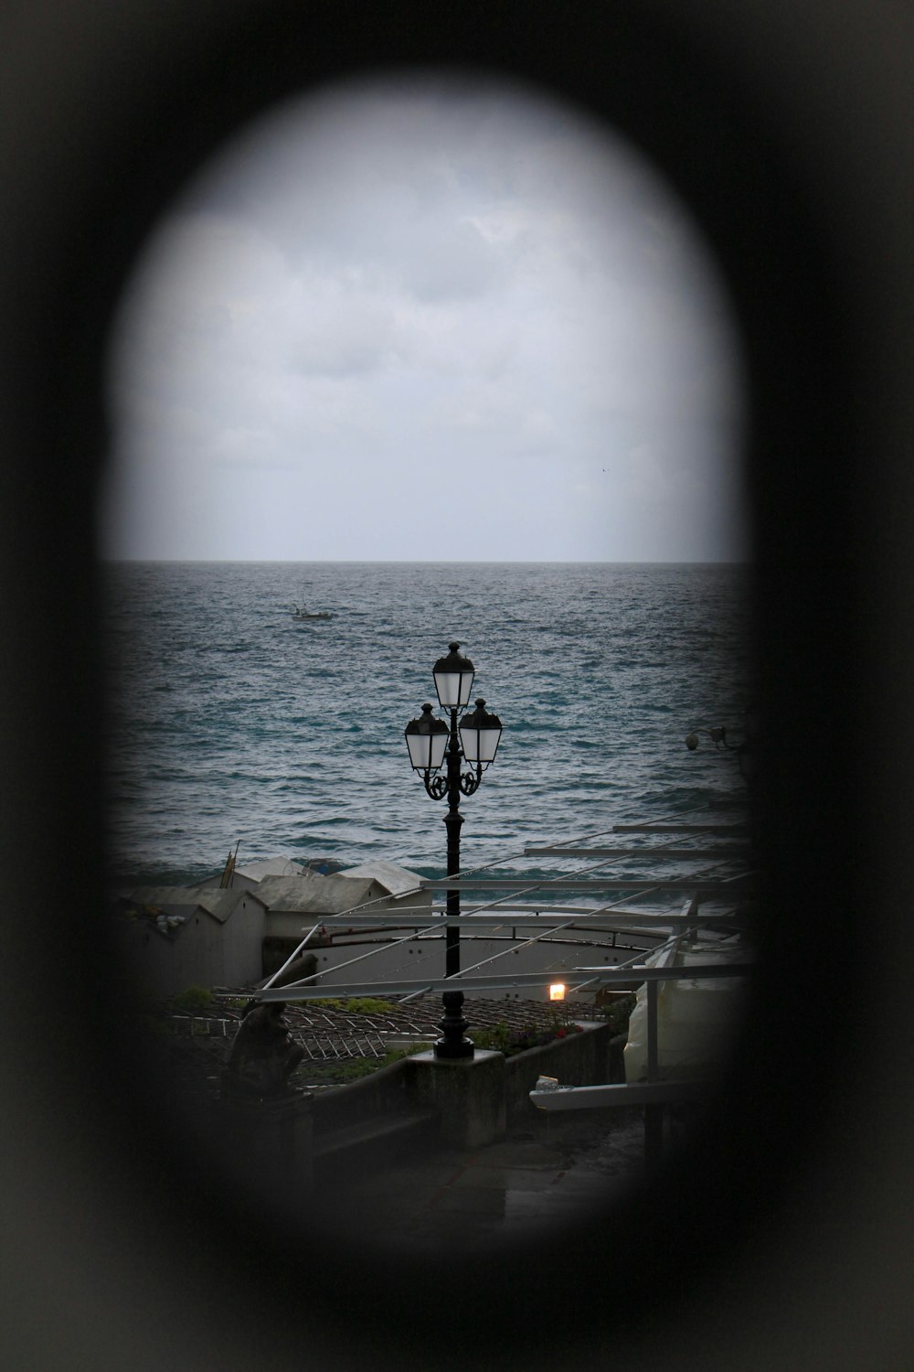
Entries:
{"label": "bare metal awning frame with pale slanting bars and upright post", "polygon": [[[659,836],[663,842],[658,845],[645,844],[643,848],[610,847],[593,844],[593,840],[604,837],[607,833],[633,833]],[[702,981],[710,978],[748,978],[754,966],[748,960],[739,963],[697,962],[687,966],[670,966],[671,959],[680,947],[688,940],[693,943],[703,923],[714,921],[719,932],[721,925],[733,919],[733,933],[740,932],[740,922],[733,918],[736,900],[752,897],[752,873],[745,870],[745,860],[751,856],[748,844],[733,842],[726,845],[711,845],[708,848],[673,847],[666,836],[684,836],[704,840],[707,837],[741,838],[748,833],[745,825],[708,825],[687,823],[678,820],[663,820],[651,825],[614,825],[611,830],[602,834],[585,836],[562,844],[529,845],[519,858],[567,858],[582,859],[586,866],[576,873],[558,874],[554,877],[540,877],[525,879],[515,877],[486,875],[486,868],[458,873],[451,877],[422,878],[418,885],[404,892],[397,900],[396,914],[392,914],[389,901],[384,900],[384,910],[373,910],[378,901],[369,901],[354,910],[343,911],[336,916],[322,918],[310,930],[286,963],[270,978],[259,991],[259,997],[264,1002],[308,1002],[326,997],[328,988],[321,985],[322,973],[317,971],[310,977],[277,986],[277,978],[288,966],[301,955],[317,929],[328,925],[347,926],[352,932],[370,933],[371,929],[392,926],[406,930],[406,933],[384,944],[371,947],[366,952],[358,954],[348,963],[337,965],[333,971],[338,974],[340,967],[355,966],[370,962],[382,949],[389,949],[397,944],[415,941],[421,937],[444,937],[449,925],[459,923],[460,930],[470,937],[482,936],[485,930],[499,932],[506,927],[523,930],[532,934],[523,940],[511,938],[510,947],[499,951],[475,966],[462,969],[452,977],[385,977],[382,981],[355,977],[343,986],[333,984],[334,995],[348,996],[382,996],[385,999],[399,999],[407,1002],[422,995],[444,995],[455,989],[470,995],[492,995],[500,992],[534,991],[541,992],[544,980],[549,977],[551,969],[534,973],[481,973],[480,969],[499,962],[517,948],[530,944],[543,944],[555,938],[556,934],[586,933],[591,929],[595,934],[625,933],[633,938],[656,936],[660,943],[654,949],[641,949],[626,962],[613,966],[578,966],[574,969],[562,967],[555,970],[556,981],[562,981],[566,995],[576,995],[582,991],[596,988],[613,991],[619,986],[619,993],[630,992],[632,982],[645,985],[647,995],[647,1081],[611,1083],[596,1087],[565,1087],[558,1083],[551,1089],[534,1089],[530,1092],[533,1104],[547,1111],[565,1111],[581,1109],[606,1109],[619,1106],[639,1106],[644,1110],[644,1148],[648,1169],[656,1166],[663,1150],[663,1115],[669,1104],[676,1102],[696,1102],[708,1095],[713,1088],[711,1081],[696,1080],[659,1080],[659,1044],[658,1044],[658,1003],[659,988],[663,982],[680,981],[684,978]],[[593,860],[596,859],[596,860]],[[702,870],[680,877],[639,878],[604,875],[602,868],[614,862],[632,862],[643,859],[651,863],[695,862]],[[504,868],[512,859],[502,859],[488,867]],[[515,859],[514,859],[515,860]],[[707,870],[708,863],[711,871]],[[726,874],[719,871],[721,864],[739,864],[743,870]],[[444,892],[454,889],[465,892],[491,893],[492,899],[478,904],[465,907],[459,916],[448,916],[444,901],[433,903],[429,907],[410,906],[408,901],[425,892]],[[558,893],[585,893],[596,900],[593,906],[563,906],[551,897]],[[676,911],[633,910],[630,901],[645,897],[666,897],[687,893],[684,903],[680,901]],[[600,903],[602,897],[615,896],[610,903]],[[700,914],[702,903],[710,903],[718,908],[713,915]],[[719,906],[724,904],[724,911]],[[437,906],[437,908],[436,908]],[[625,906],[625,908],[621,908]],[[567,940],[567,943],[580,940]],[[645,958],[659,958],[659,965],[647,966]]]}

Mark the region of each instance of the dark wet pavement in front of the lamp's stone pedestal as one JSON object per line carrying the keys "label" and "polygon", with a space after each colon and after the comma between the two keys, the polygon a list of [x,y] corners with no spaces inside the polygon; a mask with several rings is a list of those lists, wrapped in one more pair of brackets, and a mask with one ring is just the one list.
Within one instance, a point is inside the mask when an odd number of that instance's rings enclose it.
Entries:
{"label": "dark wet pavement in front of the lamp's stone pedestal", "polygon": [[534,1118],[474,1151],[417,1152],[333,1188],[338,1238],[378,1249],[440,1251],[541,1240],[586,1224],[595,1209],[644,1181],[640,1110]]}

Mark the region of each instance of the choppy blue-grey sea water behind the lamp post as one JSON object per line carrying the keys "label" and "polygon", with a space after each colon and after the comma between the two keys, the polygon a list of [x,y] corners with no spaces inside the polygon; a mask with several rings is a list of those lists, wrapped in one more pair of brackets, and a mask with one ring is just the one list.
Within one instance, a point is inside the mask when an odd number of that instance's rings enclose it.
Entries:
{"label": "choppy blue-grey sea water behind the lamp post", "polygon": [[[255,858],[445,863],[403,731],[458,641],[504,733],[462,799],[465,870],[741,794],[748,572],[734,564],[112,563],[108,855],[122,882]],[[293,609],[329,620],[296,620]]]}

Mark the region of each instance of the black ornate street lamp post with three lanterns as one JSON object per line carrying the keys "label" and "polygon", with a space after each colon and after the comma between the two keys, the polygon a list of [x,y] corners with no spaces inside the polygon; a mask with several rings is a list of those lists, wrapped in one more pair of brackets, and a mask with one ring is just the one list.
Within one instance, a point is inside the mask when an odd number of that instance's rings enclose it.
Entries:
{"label": "black ornate street lamp post with three lanterns", "polygon": [[[474,667],[459,653],[460,645],[449,645],[447,657],[440,657],[433,668],[434,687],[443,709],[449,712],[449,724],[432,713],[432,705],[422,707],[422,715],[406,726],[406,742],[410,761],[425,782],[432,800],[445,800],[448,812],[444,825],[448,836],[447,875],[456,877],[460,871],[460,796],[471,796],[478,790],[482,772],[493,761],[502,737],[502,722],[497,715],[485,709],[480,697],[475,709],[458,719],[470,702]],[[462,763],[466,770],[462,770]],[[441,772],[444,767],[444,774]],[[444,975],[455,977],[460,970],[460,890],[448,888],[447,933],[444,954]],[[440,1022],[441,1037],[434,1045],[436,1058],[471,1058],[473,1041],[466,1037],[467,1021],[463,1018],[463,992],[445,991],[443,995],[444,1017]]]}

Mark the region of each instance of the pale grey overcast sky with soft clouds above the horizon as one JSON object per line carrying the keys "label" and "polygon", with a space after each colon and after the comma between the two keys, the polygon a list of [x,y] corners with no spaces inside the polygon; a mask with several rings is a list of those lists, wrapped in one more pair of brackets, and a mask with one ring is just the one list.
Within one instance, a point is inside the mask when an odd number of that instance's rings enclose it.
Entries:
{"label": "pale grey overcast sky with soft clouds above the horizon", "polygon": [[233,143],[138,265],[110,403],[111,557],[745,556],[695,226],[504,86],[337,88]]}

